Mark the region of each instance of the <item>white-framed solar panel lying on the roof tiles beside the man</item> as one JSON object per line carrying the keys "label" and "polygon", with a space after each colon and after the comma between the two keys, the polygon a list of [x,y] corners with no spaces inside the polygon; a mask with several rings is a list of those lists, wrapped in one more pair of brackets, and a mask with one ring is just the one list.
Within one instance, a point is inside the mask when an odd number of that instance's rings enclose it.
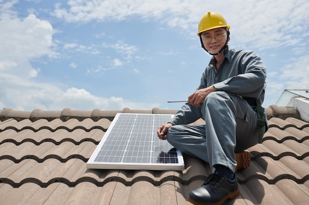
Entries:
{"label": "white-framed solar panel lying on the roof tiles beside the man", "polygon": [[87,162],[88,169],[184,170],[179,150],[157,137],[174,115],[118,113]]}

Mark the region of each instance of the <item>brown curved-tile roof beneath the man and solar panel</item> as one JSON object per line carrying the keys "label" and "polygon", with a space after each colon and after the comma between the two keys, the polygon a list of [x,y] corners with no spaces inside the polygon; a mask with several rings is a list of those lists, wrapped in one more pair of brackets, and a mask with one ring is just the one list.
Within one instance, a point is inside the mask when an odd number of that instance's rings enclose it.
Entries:
{"label": "brown curved-tile roof beneath the man and solar panel", "polygon": [[[302,205],[309,201],[309,123],[293,108],[266,108],[270,129],[239,170],[241,194],[225,205]],[[0,201],[24,205],[190,205],[211,173],[184,154],[183,171],[96,170],[86,162],[116,113],[152,111],[0,111]],[[193,124],[203,124],[203,119]]]}

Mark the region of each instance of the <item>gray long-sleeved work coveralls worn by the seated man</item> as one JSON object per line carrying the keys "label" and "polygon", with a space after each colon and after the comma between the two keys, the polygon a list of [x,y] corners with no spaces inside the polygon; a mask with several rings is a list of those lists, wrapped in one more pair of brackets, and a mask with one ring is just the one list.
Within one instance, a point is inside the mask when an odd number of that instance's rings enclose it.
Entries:
{"label": "gray long-sleeved work coveralls worn by the seated man", "polygon": [[[197,89],[213,85],[200,107],[186,103],[170,121],[167,141],[177,149],[210,164],[236,168],[234,150],[243,151],[258,142],[257,110],[245,99],[263,103],[266,67],[252,51],[230,49],[218,70],[210,60]],[[245,98],[245,99],[244,99]],[[188,125],[200,117],[205,125]],[[267,126],[267,125],[266,125]]]}

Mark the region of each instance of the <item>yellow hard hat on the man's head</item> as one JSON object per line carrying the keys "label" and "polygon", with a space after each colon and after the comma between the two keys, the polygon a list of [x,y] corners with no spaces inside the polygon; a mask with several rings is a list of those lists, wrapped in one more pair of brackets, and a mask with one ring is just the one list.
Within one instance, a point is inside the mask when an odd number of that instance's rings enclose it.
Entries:
{"label": "yellow hard hat on the man's head", "polygon": [[216,12],[208,12],[199,21],[197,35],[199,36],[199,33],[205,30],[222,27],[226,27],[228,30],[230,30],[230,26],[221,14]]}

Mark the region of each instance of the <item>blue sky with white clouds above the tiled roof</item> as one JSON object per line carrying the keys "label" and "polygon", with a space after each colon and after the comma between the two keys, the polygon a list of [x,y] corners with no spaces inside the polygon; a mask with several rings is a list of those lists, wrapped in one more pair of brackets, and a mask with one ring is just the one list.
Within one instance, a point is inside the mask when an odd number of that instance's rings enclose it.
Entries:
{"label": "blue sky with white clouds above the tiled roof", "polygon": [[309,89],[308,0],[0,0],[0,109],[178,109],[211,58],[208,11],[265,62],[264,107]]}

